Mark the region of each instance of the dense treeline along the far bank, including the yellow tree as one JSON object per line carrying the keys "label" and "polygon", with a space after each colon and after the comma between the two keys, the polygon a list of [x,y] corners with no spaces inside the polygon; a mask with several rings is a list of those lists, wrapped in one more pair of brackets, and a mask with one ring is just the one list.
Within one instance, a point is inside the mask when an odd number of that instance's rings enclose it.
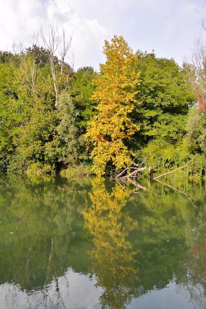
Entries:
{"label": "dense treeline along the far bank, including the yellow tree", "polygon": [[205,67],[133,53],[115,36],[100,73],[75,72],[65,62],[69,45],[59,58],[51,47],[0,52],[0,172],[93,164],[95,174],[111,175],[134,157],[160,172],[199,153],[187,173],[204,175]]}

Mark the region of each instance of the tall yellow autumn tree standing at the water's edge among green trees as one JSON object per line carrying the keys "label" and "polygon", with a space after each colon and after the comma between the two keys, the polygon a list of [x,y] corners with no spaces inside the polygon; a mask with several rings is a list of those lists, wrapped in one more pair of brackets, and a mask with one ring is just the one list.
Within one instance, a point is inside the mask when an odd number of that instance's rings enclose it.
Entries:
{"label": "tall yellow autumn tree standing at the water's edge among green trees", "polygon": [[132,153],[125,146],[134,132],[139,130],[131,117],[138,92],[140,73],[136,73],[137,61],[132,49],[122,36],[115,36],[112,42],[105,40],[103,53],[105,64],[100,64],[100,74],[94,78],[96,84],[92,99],[98,102],[98,114],[90,121],[85,138],[93,150],[93,171],[96,175],[105,174],[108,162],[116,170],[131,163]]}

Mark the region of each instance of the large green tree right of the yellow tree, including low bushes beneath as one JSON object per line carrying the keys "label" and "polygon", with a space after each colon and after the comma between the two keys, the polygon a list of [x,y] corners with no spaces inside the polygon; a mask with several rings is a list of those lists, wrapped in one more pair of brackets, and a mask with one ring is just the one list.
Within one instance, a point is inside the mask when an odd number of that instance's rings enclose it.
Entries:
{"label": "large green tree right of the yellow tree, including low bushes beneath", "polygon": [[183,138],[186,133],[188,106],[194,94],[186,90],[184,72],[173,59],[157,58],[154,53],[137,52],[136,70],[141,71],[140,107],[133,114],[140,131],[133,136],[133,147],[148,163],[161,162],[164,168],[187,160]]}

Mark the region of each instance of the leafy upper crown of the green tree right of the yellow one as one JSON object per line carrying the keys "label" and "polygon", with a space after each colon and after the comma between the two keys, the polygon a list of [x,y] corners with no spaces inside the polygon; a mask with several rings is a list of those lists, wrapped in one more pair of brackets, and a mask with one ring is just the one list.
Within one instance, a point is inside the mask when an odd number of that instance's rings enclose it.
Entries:
{"label": "leafy upper crown of the green tree right of the yellow one", "polygon": [[137,110],[142,121],[140,132],[148,142],[154,138],[170,144],[182,139],[188,105],[194,95],[185,91],[185,80],[173,59],[156,58],[155,54],[137,53],[137,70],[141,71]]}

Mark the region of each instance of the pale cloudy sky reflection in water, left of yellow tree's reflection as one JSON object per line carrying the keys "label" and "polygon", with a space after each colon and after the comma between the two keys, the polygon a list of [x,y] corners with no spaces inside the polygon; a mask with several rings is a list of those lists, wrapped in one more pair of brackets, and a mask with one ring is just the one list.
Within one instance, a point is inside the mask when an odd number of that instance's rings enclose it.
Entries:
{"label": "pale cloudy sky reflection in water, left of yellow tree's reflection", "polygon": [[3,283],[0,286],[0,308],[100,309],[102,289],[94,289],[95,283],[93,277],[79,275],[72,269],[68,269],[61,277],[54,277],[43,288],[29,293],[22,290],[20,285]]}

